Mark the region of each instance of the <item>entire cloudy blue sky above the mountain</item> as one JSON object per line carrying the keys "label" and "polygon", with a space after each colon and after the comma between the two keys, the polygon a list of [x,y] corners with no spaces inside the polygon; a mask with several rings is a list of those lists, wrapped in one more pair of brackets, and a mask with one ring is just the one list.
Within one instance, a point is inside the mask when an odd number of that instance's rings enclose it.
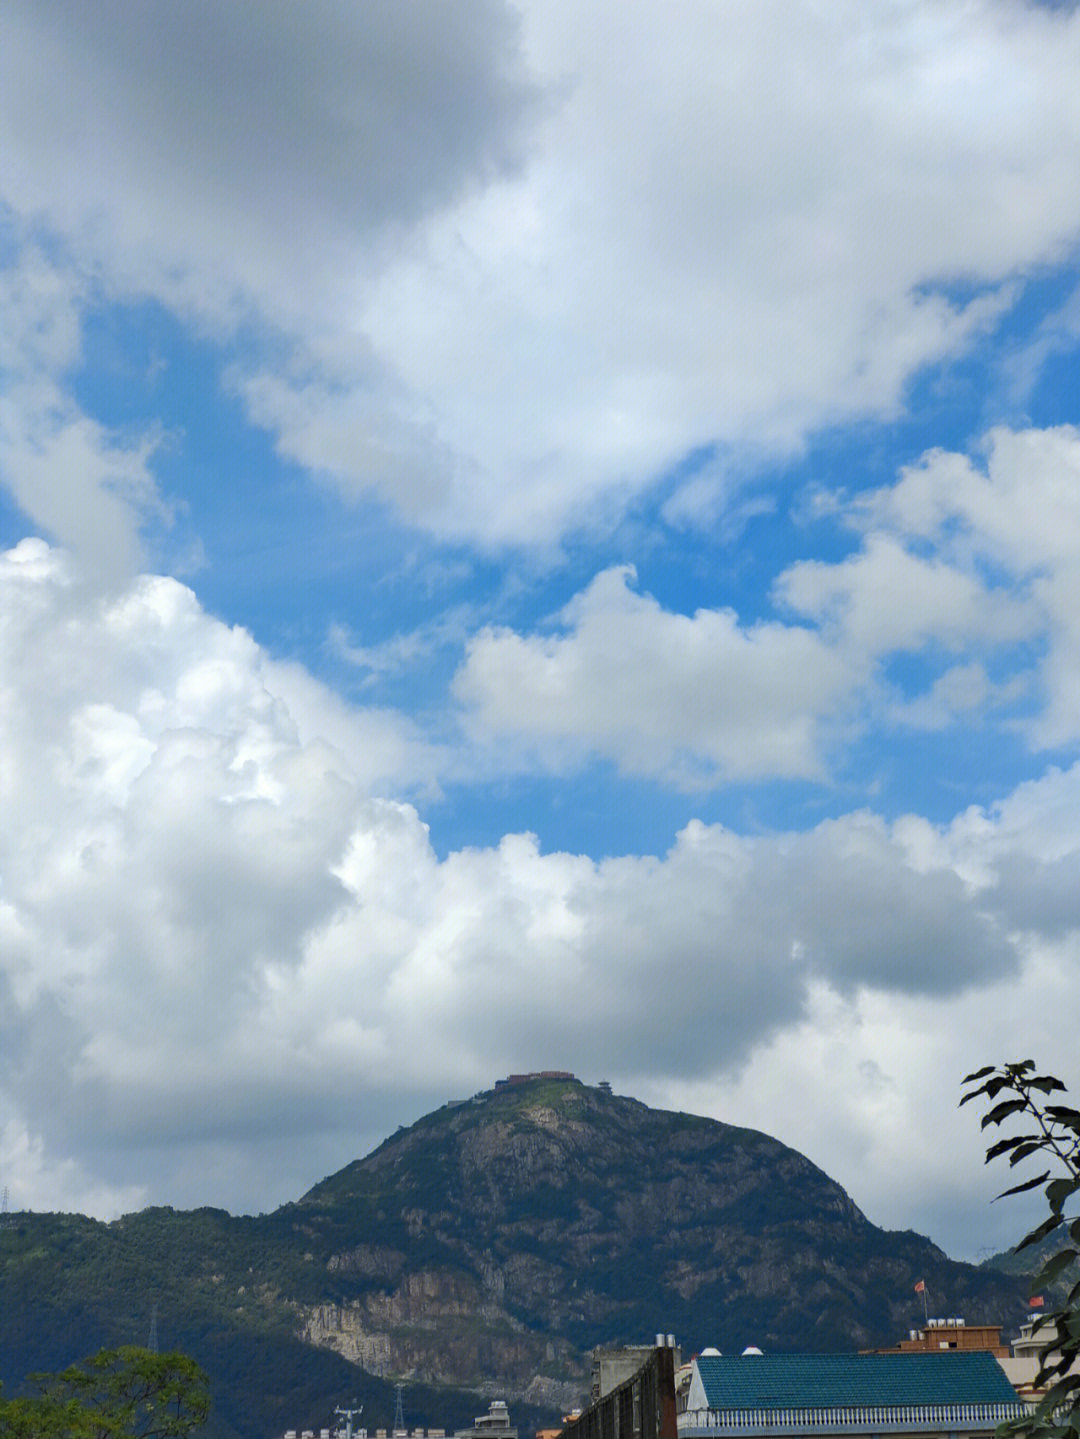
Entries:
{"label": "entire cloudy blue sky above the mountain", "polygon": [[925,1114],[1080,1078],[1074,9],[4,24],[13,1202],[558,1066],[1008,1242]]}

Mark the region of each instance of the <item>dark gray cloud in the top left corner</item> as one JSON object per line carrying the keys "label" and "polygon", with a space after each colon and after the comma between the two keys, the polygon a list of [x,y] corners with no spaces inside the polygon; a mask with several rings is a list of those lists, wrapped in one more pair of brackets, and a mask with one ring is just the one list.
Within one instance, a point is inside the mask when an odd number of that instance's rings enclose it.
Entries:
{"label": "dark gray cloud in the top left corner", "polygon": [[512,168],[538,99],[499,0],[16,3],[6,53],[12,201],[201,299],[348,272]]}

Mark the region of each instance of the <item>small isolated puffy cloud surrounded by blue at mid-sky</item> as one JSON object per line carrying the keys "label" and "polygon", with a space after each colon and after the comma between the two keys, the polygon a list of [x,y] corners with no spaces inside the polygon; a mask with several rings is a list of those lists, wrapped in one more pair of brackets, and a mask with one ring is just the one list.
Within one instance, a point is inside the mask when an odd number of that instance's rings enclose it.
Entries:
{"label": "small isolated puffy cloud surrounded by blue at mid-sky", "polygon": [[821,730],[860,678],[846,656],[808,627],[673,614],[633,577],[597,576],[561,616],[567,635],[470,640],[454,691],[479,741],[516,740],[557,768],[600,753],[682,786],[821,777]]}

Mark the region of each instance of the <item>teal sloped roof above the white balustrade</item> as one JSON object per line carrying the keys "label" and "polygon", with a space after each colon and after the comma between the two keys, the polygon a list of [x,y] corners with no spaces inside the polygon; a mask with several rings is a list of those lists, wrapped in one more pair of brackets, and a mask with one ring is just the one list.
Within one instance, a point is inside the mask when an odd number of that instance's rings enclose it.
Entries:
{"label": "teal sloped roof above the white balustrade", "polygon": [[1015,1404],[992,1354],[706,1354],[697,1360],[709,1409],[877,1404]]}

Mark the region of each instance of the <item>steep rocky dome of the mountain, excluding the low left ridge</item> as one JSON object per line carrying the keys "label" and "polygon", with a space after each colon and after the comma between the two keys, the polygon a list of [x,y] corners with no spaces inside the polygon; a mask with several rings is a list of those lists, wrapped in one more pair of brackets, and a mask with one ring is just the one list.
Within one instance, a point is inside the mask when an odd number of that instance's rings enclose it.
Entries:
{"label": "steep rocky dome of the mountain, excluding the low left ridge", "polygon": [[[580,1393],[597,1343],[893,1341],[913,1285],[1010,1322],[1022,1295],[886,1233],[752,1130],[536,1081],[427,1115],[290,1216],[326,1276],[305,1337],[361,1363],[508,1394]],[[565,1402],[559,1397],[558,1402]]]}

